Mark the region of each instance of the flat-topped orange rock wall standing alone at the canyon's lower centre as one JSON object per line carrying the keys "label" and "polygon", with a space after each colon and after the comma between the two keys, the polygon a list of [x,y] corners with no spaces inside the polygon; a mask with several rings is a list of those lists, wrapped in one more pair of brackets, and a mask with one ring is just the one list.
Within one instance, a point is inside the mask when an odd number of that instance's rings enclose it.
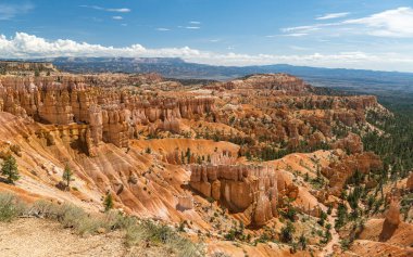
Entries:
{"label": "flat-topped orange rock wall standing alone at the canyon's lower centre", "polygon": [[252,165],[190,165],[192,189],[263,226],[276,216],[277,174]]}

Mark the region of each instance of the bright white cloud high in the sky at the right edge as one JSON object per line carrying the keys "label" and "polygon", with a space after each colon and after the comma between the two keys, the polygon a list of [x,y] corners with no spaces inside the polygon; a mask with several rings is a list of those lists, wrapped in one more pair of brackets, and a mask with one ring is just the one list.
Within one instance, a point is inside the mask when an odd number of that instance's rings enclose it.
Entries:
{"label": "bright white cloud high in the sky at the right edge", "polygon": [[367,33],[378,37],[413,37],[413,9],[398,8],[367,17],[348,20],[342,24],[363,25]]}

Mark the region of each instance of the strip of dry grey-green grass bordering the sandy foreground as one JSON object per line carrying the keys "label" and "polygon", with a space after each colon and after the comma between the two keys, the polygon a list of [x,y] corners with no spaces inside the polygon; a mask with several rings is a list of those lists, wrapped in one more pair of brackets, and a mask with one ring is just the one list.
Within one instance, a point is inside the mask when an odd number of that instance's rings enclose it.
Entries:
{"label": "strip of dry grey-green grass bordering the sandy foreground", "polygon": [[204,255],[202,245],[195,244],[173,228],[152,220],[139,220],[115,210],[91,215],[75,205],[58,205],[49,201],[38,201],[28,207],[16,196],[0,193],[0,221],[11,221],[20,215],[57,220],[80,235],[120,230],[125,233],[125,244],[128,247],[150,244],[163,248],[168,255]]}

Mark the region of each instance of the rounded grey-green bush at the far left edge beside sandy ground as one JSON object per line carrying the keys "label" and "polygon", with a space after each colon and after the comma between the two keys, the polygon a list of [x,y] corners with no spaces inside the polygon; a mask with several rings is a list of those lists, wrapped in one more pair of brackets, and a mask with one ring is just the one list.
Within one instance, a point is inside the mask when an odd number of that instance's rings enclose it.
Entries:
{"label": "rounded grey-green bush at the far left edge beside sandy ground", "polygon": [[26,206],[12,194],[0,194],[0,221],[10,222],[23,215]]}

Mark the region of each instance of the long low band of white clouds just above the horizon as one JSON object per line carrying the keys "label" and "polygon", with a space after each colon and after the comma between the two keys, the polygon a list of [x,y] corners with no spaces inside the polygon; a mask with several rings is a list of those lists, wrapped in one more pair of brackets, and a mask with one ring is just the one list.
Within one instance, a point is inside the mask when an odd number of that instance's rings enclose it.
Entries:
{"label": "long low band of white clouds just above the horizon", "polygon": [[16,33],[8,38],[0,35],[0,56],[3,59],[35,59],[58,56],[123,56],[123,57],[182,57],[189,62],[216,65],[263,65],[287,63],[320,67],[347,67],[413,72],[413,55],[398,53],[368,54],[340,52],[336,54],[240,54],[200,51],[189,47],[150,49],[141,44],[124,48],[104,47],[68,39],[53,41]]}

